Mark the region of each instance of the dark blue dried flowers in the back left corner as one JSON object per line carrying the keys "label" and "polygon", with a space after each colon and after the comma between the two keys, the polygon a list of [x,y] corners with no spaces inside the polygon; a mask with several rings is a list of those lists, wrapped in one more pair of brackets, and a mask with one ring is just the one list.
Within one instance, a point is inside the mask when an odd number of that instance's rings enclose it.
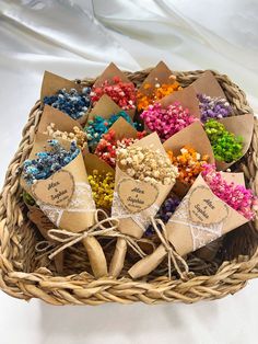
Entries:
{"label": "dark blue dried flowers in the back left corner", "polygon": [[45,96],[44,104],[62,111],[73,119],[79,119],[91,106],[90,93],[91,88],[83,88],[82,93],[79,93],[75,89],[68,92],[62,89],[55,95]]}

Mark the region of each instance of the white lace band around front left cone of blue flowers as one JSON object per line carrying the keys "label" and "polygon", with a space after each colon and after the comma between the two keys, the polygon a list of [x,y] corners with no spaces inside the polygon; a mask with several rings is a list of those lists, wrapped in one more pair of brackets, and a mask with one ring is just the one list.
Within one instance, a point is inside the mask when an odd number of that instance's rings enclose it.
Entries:
{"label": "white lace band around front left cone of blue flowers", "polygon": [[67,208],[46,205],[39,200],[37,200],[37,205],[46,214],[49,220],[57,227],[60,225],[63,211],[84,213],[96,210],[96,206],[92,196],[92,188],[89,184],[83,182],[75,183],[72,199]]}

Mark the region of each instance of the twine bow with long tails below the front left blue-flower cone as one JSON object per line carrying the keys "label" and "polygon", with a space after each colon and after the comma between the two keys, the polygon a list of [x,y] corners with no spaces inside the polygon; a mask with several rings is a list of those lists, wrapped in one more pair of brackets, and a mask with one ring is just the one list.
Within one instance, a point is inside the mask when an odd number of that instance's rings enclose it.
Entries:
{"label": "twine bow with long tails below the front left blue-flower cone", "polygon": [[[99,220],[99,217],[104,218]],[[49,239],[54,241],[40,241],[36,245],[36,251],[42,253],[40,257],[48,255],[49,260],[52,260],[58,253],[63,250],[74,245],[81,240],[89,237],[113,237],[113,238],[122,238],[126,240],[127,244],[137,252],[141,257],[145,256],[145,253],[141,250],[136,239],[132,237],[120,233],[117,228],[119,225],[119,219],[114,217],[108,217],[106,211],[103,209],[96,209],[95,211],[95,225],[90,229],[74,233],[66,229],[49,229],[47,234]],[[107,226],[107,227],[105,227]],[[39,257],[38,257],[39,259]]]}

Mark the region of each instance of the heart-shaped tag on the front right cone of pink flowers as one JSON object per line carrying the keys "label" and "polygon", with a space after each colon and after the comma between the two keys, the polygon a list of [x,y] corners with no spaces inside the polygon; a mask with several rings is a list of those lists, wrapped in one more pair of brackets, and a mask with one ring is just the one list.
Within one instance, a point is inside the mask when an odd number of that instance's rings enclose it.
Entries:
{"label": "heart-shaped tag on the front right cone of pink flowers", "polygon": [[192,222],[216,225],[228,215],[227,206],[207,186],[197,186],[188,199],[189,216]]}

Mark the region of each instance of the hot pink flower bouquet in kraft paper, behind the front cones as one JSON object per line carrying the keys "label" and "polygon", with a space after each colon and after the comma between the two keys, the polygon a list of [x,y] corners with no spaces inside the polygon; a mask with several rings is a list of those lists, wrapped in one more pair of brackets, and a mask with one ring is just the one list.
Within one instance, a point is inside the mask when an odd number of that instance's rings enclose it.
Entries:
{"label": "hot pink flower bouquet in kraft paper, behind the front cones", "polygon": [[145,128],[156,131],[162,141],[180,131],[195,121],[199,121],[200,111],[194,88],[172,93],[160,102],[150,105],[140,117]]}

